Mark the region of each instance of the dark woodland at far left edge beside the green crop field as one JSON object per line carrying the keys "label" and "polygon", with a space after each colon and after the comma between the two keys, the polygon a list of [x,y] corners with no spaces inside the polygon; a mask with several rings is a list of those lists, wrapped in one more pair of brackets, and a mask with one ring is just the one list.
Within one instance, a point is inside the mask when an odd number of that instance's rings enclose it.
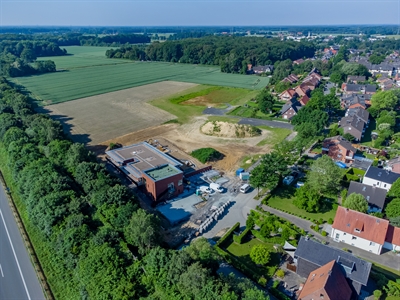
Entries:
{"label": "dark woodland at far left edge beside the green crop field", "polygon": [[53,61],[37,61],[41,56],[66,55],[65,49],[50,41],[2,40],[0,64],[3,76],[25,76],[55,72]]}

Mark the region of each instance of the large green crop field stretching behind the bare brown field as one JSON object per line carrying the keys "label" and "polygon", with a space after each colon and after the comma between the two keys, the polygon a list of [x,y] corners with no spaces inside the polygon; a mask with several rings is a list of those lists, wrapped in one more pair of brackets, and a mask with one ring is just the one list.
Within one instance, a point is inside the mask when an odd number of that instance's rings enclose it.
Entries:
{"label": "large green crop field stretching behind the bare brown field", "polygon": [[[226,74],[216,66],[107,59],[106,47],[65,47],[72,55],[52,57],[61,72],[14,78],[44,105],[160,81],[181,81],[258,90],[267,77]],[[48,59],[48,58],[46,58]]]}

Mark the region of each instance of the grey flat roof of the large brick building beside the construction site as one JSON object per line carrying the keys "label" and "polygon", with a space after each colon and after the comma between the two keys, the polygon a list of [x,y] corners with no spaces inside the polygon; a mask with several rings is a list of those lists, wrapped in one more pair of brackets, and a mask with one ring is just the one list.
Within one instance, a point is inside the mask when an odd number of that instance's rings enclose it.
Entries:
{"label": "grey flat roof of the large brick building beside the construction site", "polygon": [[170,164],[174,167],[182,165],[176,159],[146,142],[110,150],[106,154],[117,165],[124,166],[129,164],[140,172],[165,164]]}

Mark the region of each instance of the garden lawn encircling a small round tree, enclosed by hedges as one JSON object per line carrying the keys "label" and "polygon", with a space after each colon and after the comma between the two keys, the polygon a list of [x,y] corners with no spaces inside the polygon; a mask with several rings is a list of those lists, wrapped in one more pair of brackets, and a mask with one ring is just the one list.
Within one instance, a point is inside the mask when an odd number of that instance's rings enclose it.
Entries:
{"label": "garden lawn encircling a small round tree, enclosed by hedges", "polygon": [[[253,248],[255,245],[265,245],[271,250],[271,260],[265,267],[258,267],[250,258],[250,250]],[[243,243],[243,244],[237,244],[235,242],[232,242],[226,250],[235,255],[243,264],[245,264],[247,267],[251,268],[254,273],[256,273],[259,276],[264,277],[272,277],[275,274],[275,271],[278,267],[278,264],[280,262],[280,254],[275,252],[275,249],[273,248],[273,244],[269,243],[264,243],[258,239],[251,239],[250,241]]]}

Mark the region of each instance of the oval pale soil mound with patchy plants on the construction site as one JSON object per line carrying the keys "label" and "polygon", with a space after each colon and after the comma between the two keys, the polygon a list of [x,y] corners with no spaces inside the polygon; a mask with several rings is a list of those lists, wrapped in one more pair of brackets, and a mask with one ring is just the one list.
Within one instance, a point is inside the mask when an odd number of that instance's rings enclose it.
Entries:
{"label": "oval pale soil mound with patchy plants on the construction site", "polygon": [[247,138],[261,135],[261,130],[257,127],[220,121],[207,122],[201,127],[201,132],[227,138]]}

